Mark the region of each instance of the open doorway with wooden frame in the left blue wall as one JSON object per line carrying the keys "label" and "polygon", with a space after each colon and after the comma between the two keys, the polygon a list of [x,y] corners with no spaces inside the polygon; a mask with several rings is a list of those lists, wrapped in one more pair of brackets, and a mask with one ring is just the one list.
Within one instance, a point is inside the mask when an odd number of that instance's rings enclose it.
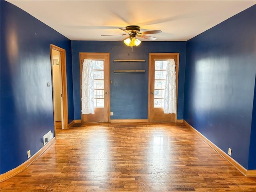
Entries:
{"label": "open doorway with wooden frame in the left blue wall", "polygon": [[54,130],[68,129],[66,51],[51,44]]}

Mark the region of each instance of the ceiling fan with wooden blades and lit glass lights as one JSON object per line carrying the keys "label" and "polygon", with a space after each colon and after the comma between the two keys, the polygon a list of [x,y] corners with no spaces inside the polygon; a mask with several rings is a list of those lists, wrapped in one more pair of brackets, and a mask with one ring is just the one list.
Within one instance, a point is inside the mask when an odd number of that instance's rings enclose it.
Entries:
{"label": "ceiling fan with wooden blades and lit glass lights", "polygon": [[[144,38],[144,39],[148,39],[148,40],[155,40],[155,37],[151,37],[151,36],[146,36],[147,34],[156,34],[156,33],[162,33],[161,30],[151,30],[151,31],[143,31],[140,32],[140,26],[138,25],[129,25],[126,26],[125,29],[123,28],[119,28],[121,30],[123,30],[124,32],[128,33],[129,37],[124,38],[124,43],[127,46],[138,46],[141,41],[138,40],[137,38]],[[120,35],[126,35],[126,34],[120,34]],[[111,35],[102,35],[102,36],[111,36]]]}

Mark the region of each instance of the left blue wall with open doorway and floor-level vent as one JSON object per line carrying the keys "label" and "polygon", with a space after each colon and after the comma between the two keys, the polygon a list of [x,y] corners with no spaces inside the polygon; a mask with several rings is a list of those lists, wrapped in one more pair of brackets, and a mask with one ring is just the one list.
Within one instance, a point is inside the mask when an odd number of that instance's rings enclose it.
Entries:
{"label": "left blue wall with open doorway and floor-level vent", "polygon": [[[1,174],[27,160],[54,132],[50,44],[66,49],[68,116],[74,119],[71,41],[20,8],[0,1]],[[50,82],[50,87],[47,87]]]}

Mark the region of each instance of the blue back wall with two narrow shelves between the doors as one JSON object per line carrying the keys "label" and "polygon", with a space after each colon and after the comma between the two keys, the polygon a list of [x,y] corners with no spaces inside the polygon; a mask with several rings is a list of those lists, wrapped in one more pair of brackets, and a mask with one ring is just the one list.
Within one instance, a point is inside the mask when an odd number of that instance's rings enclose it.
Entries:
{"label": "blue back wall with two narrow shelves between the doors", "polygon": [[[132,49],[123,42],[72,41],[74,118],[81,119],[79,52],[110,53],[111,119],[148,118],[149,53],[180,53],[177,118],[183,119],[186,42],[142,42]],[[146,59],[146,62],[114,62],[115,59]],[[114,70],[146,70],[146,74],[114,74]]]}

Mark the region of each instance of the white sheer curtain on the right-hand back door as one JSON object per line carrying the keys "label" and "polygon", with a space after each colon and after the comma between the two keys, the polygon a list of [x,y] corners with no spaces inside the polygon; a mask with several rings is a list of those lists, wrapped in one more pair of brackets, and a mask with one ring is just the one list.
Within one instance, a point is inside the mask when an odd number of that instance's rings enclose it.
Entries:
{"label": "white sheer curtain on the right-hand back door", "polygon": [[174,59],[168,59],[166,66],[164,113],[176,113],[176,71]]}

